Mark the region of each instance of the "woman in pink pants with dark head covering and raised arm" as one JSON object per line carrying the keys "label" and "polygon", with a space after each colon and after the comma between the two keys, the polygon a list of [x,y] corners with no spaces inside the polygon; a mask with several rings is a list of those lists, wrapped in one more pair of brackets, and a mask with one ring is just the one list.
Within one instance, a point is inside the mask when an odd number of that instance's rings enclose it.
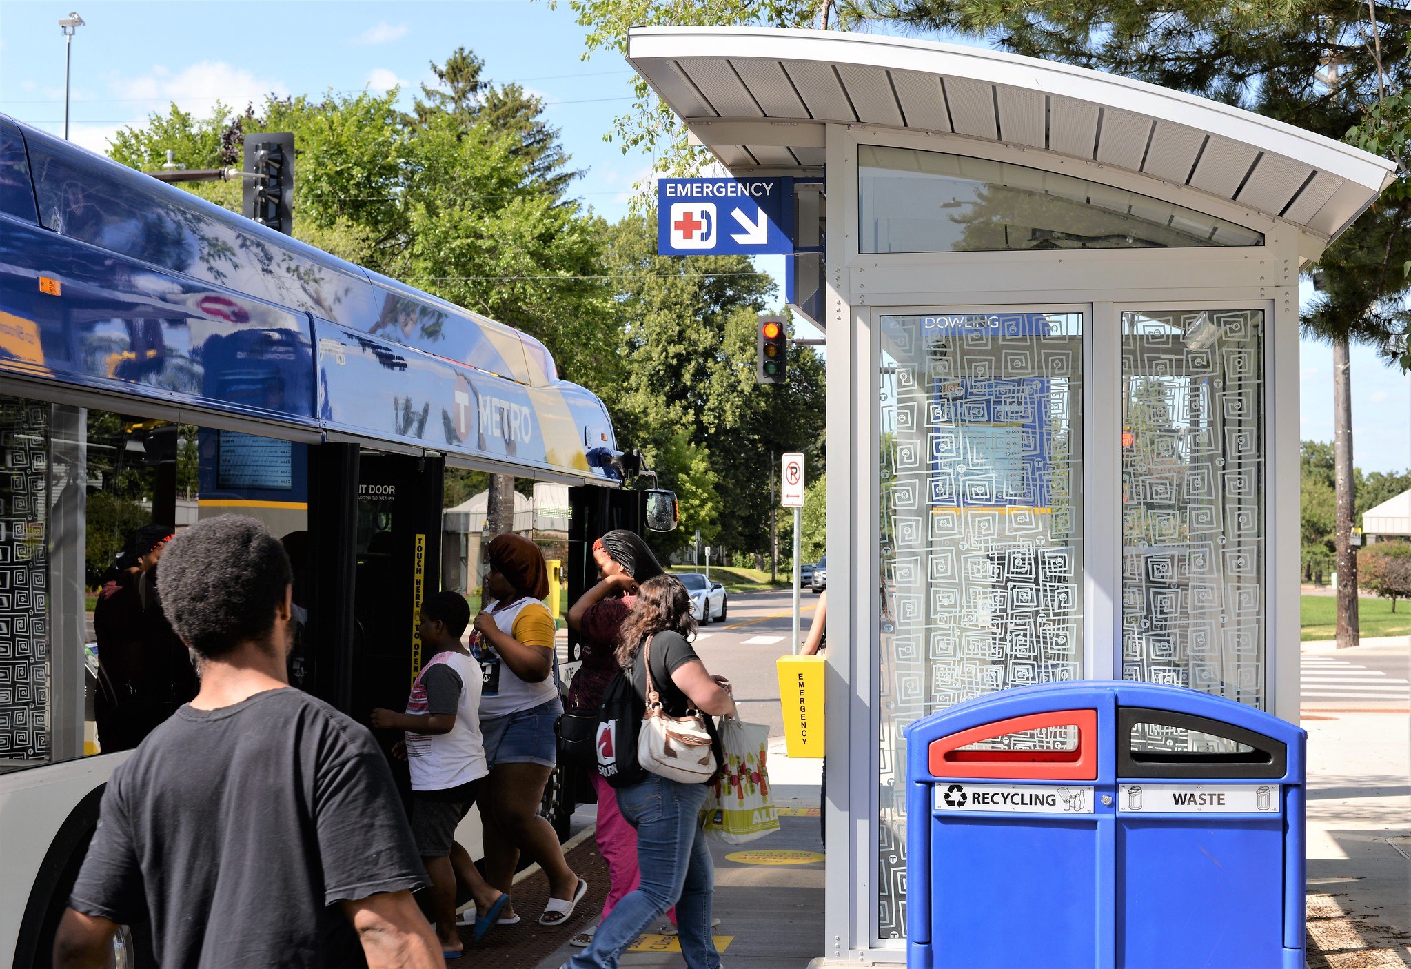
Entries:
{"label": "woman in pink pants with dark head covering and raised arm", "polygon": [[[602,702],[602,691],[619,669],[617,635],[636,602],[636,587],[663,571],[646,543],[625,530],[608,532],[594,542],[593,560],[600,581],[573,604],[567,616],[569,628],[583,639],[583,666],[569,687],[569,709],[595,711]],[[612,907],[636,889],[642,876],[636,867],[636,829],[618,812],[617,794],[597,772],[593,772],[593,787],[598,793],[594,834],[608,865],[608,897],[602,903],[602,918],[607,918]],[[666,914],[674,925],[676,910]],[[579,932],[569,942],[580,948],[588,945],[594,928]]]}

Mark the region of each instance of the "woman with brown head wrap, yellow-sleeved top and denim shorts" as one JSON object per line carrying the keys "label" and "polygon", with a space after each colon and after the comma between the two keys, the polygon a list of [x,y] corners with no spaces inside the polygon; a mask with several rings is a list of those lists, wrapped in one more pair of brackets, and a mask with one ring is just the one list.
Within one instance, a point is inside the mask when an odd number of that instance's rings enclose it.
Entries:
{"label": "woman with brown head wrap, yellow-sleeved top and denim shorts", "polygon": [[[498,535],[487,547],[485,608],[476,616],[470,650],[480,660],[480,732],[490,776],[483,781],[485,880],[509,893],[519,852],[549,876],[549,904],[539,922],[557,925],[588,890],[563,860],[559,838],[539,817],[543,786],[553,773],[553,725],[563,714],[553,669],[553,616],[540,599],[549,570],[539,546]],[[512,903],[511,903],[512,904]],[[501,922],[518,922],[505,910]]]}

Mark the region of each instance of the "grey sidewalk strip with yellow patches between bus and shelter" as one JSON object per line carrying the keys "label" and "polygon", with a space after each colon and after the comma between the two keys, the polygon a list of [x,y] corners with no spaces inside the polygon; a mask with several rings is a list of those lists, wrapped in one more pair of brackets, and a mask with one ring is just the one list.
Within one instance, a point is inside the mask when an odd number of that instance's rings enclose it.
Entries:
{"label": "grey sidewalk strip with yellow patches between bus and shelter", "polygon": [[[729,969],[803,969],[823,955],[823,845],[818,832],[821,760],[790,760],[783,739],[769,748],[769,781],[779,831],[748,845],[708,839],[715,862],[715,946]],[[595,921],[595,920],[594,920]],[[567,945],[539,963],[559,969]],[[649,932],[622,956],[622,969],[680,969],[674,937]]]}

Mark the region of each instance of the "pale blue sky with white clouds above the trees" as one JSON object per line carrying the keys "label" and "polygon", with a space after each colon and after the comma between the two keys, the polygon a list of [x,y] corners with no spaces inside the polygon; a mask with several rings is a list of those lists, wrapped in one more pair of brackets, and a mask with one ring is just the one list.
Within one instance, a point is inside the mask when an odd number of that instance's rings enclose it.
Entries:
{"label": "pale blue sky with white clouds above the trees", "polygon": [[[219,96],[244,107],[265,93],[353,92],[401,85],[419,90],[464,45],[485,59],[495,82],[515,80],[543,96],[577,168],[583,202],[607,219],[626,212],[634,183],[652,158],[624,155],[602,135],[631,107],[632,72],[614,52],[583,61],[583,28],[567,4],[542,0],[446,3],[124,3],[63,0],[0,3],[0,111],[49,131],[63,128],[63,38],[59,17],[78,10],[71,128],[102,150],[124,124],[150,111],[206,114]],[[408,99],[411,95],[408,95]],[[782,275],[779,258],[761,268]],[[1307,289],[1307,286],[1305,286]],[[1332,351],[1304,341],[1302,437],[1332,440]],[[1367,471],[1411,467],[1411,384],[1376,355],[1352,355],[1353,434]],[[1277,401],[1270,401],[1277,406]]]}

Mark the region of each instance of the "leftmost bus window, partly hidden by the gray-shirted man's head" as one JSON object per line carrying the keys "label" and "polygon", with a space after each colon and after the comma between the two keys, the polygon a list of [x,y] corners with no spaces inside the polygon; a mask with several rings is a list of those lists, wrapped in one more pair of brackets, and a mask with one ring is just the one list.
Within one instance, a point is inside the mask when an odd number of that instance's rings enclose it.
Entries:
{"label": "leftmost bus window, partly hidden by the gray-shirted man's head", "polygon": [[0,770],[134,748],[189,701],[165,542],[237,512],[296,561],[305,475],[303,444],[0,396]]}

